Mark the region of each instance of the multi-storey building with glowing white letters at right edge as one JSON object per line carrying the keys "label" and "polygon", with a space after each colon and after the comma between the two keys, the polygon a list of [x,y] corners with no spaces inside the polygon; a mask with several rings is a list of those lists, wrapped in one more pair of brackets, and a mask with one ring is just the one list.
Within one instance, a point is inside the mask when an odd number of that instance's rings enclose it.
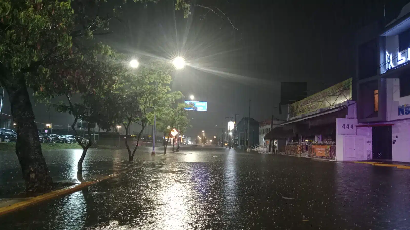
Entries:
{"label": "multi-storey building with glowing white letters at right edge", "polygon": [[371,136],[371,160],[410,162],[409,6],[358,44],[357,130]]}

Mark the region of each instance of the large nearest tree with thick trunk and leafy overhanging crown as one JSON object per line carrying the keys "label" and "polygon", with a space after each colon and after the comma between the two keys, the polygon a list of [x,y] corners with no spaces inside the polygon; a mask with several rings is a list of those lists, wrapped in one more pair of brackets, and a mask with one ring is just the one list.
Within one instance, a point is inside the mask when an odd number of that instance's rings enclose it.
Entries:
{"label": "large nearest tree with thick trunk and leafy overhanging crown", "polygon": [[[28,194],[50,190],[52,180],[41,153],[27,88],[44,99],[61,87],[58,82],[84,83],[82,75],[87,72],[84,70],[91,68],[84,68],[82,59],[94,52],[92,47],[107,48],[90,45],[92,39],[110,33],[109,22],[120,13],[120,6],[115,4],[108,14],[100,10],[107,9],[106,4],[112,6],[106,0],[0,1],[0,84],[9,95],[16,122],[16,154]],[[185,17],[190,7],[187,0],[175,4],[176,9],[185,12]],[[62,93],[57,91],[55,95]]]}

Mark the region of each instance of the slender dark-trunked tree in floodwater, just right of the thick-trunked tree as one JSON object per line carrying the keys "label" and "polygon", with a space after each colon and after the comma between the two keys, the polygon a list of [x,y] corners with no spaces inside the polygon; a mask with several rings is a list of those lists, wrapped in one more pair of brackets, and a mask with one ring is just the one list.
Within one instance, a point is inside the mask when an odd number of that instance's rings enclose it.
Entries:
{"label": "slender dark-trunked tree in floodwater, just right of the thick-trunked tree", "polygon": [[[123,81],[120,80],[124,74],[127,74],[127,69],[122,64],[118,54],[109,49],[109,47],[99,44],[100,48],[93,48],[92,52],[87,53],[87,58],[81,60],[80,63],[74,63],[73,67],[77,68],[75,72],[81,75],[82,82],[67,81],[69,77],[63,78],[65,81],[58,82],[58,86],[52,90],[52,95],[44,95],[45,97],[64,96],[65,102],[57,104],[57,110],[60,112],[68,112],[74,116],[71,128],[75,133],[75,140],[83,149],[82,155],[78,161],[78,172],[82,172],[82,163],[87,154],[87,150],[91,147],[91,126],[98,126],[102,129],[110,129],[114,123],[115,113],[112,113],[112,101],[115,101],[114,95],[116,92],[121,92]],[[69,71],[68,74],[72,74]],[[75,73],[74,73],[75,74]],[[76,79],[76,78],[73,78]],[[72,86],[69,88],[69,86]],[[75,102],[73,97],[79,97],[79,101]],[[89,142],[84,145],[78,138],[75,126],[78,120],[87,123],[87,134]]]}

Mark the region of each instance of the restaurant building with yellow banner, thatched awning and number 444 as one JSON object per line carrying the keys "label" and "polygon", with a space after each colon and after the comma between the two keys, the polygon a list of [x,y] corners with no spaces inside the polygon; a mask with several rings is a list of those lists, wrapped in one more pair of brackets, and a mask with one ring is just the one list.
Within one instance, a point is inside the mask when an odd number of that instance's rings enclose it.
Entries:
{"label": "restaurant building with yellow banner, thatched awning and number 444", "polygon": [[[356,134],[351,131],[357,125],[356,102],[352,100],[352,80],[346,79],[290,104],[287,121],[272,129],[264,138],[278,142],[286,140],[286,145],[279,146],[278,151],[289,155],[330,160],[367,159],[364,141],[369,136],[358,137],[360,140],[357,144],[362,143],[363,147],[355,147],[355,143],[348,142],[351,140],[350,135]],[[353,149],[344,148],[343,143],[349,143]],[[352,153],[354,149],[362,149],[362,155]]]}

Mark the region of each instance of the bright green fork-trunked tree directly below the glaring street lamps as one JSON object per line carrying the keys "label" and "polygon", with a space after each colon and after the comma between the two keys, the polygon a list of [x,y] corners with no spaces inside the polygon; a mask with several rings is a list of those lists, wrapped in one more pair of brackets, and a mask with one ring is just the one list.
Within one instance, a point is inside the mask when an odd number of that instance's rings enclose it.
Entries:
{"label": "bright green fork-trunked tree directly below the glaring street lamps", "polygon": [[170,75],[172,70],[172,65],[168,63],[153,61],[137,70],[136,74],[130,74],[127,78],[129,83],[124,84],[123,88],[118,91],[118,96],[115,97],[118,100],[115,101],[116,111],[118,111],[116,123],[123,124],[127,135],[132,123],[141,126],[133,151],[128,144],[128,137],[125,138],[130,161],[134,158],[139,140],[148,122],[148,113],[153,110],[163,110],[164,102],[179,97],[179,92],[169,93],[171,89],[168,84],[172,81]]}

